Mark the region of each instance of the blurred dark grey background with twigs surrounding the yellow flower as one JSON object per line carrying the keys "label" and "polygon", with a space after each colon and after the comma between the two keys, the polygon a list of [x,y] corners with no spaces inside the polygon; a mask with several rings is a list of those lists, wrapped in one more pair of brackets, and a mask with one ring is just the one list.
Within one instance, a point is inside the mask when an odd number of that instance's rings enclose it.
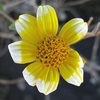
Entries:
{"label": "blurred dark grey background with twigs surrounding the yellow flower", "polygon": [[[41,4],[55,8],[59,30],[75,17],[89,23],[86,37],[71,46],[87,60],[84,83],[76,87],[60,78],[57,90],[49,96],[24,81],[22,71],[27,65],[15,64],[8,52],[8,44],[20,40],[10,25],[23,13],[36,16]],[[99,21],[100,0],[0,0],[0,100],[100,100]]]}

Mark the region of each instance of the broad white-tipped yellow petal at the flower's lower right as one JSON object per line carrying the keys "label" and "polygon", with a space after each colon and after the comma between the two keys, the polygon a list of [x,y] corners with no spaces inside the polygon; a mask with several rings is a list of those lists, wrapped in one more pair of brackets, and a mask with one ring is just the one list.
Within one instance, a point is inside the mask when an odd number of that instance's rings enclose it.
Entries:
{"label": "broad white-tipped yellow petal at the flower's lower right", "polygon": [[70,84],[80,86],[83,82],[83,61],[79,54],[70,49],[68,58],[59,67],[61,76]]}

